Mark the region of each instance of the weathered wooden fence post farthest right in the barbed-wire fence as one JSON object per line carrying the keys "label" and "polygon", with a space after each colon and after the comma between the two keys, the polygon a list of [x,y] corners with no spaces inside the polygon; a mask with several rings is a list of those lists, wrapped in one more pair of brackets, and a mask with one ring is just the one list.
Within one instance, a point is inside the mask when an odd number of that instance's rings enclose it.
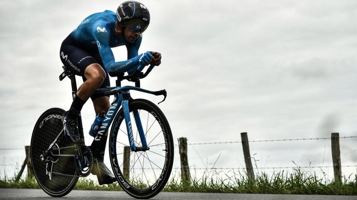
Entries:
{"label": "weathered wooden fence post farthest right in the barbed-wire fence", "polygon": [[338,133],[331,133],[331,151],[335,181],[341,183],[340,136]]}

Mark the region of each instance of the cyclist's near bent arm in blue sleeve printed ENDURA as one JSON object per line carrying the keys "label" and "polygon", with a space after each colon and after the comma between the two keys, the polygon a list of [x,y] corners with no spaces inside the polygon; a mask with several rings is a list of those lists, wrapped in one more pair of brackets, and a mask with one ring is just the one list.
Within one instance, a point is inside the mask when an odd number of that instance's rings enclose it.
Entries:
{"label": "cyclist's near bent arm in blue sleeve printed ENDURA", "polygon": [[97,42],[99,54],[100,57],[102,58],[104,67],[107,72],[124,73],[139,65],[140,56],[138,55],[125,61],[115,62],[113,52],[111,51],[109,46],[109,39],[110,39],[109,28],[105,28],[105,26],[104,27],[95,26],[93,29],[94,29],[94,34],[93,34],[94,39]]}

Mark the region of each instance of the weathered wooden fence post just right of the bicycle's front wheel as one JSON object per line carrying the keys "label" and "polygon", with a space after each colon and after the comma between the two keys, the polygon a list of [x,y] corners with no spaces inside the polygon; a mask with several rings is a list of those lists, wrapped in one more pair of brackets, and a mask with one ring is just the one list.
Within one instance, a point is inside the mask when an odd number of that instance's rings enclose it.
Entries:
{"label": "weathered wooden fence post just right of the bicycle's front wheel", "polygon": [[180,137],[178,140],[178,148],[180,152],[180,160],[181,160],[181,179],[184,182],[190,182],[190,168],[188,167],[188,159],[187,159],[187,138]]}

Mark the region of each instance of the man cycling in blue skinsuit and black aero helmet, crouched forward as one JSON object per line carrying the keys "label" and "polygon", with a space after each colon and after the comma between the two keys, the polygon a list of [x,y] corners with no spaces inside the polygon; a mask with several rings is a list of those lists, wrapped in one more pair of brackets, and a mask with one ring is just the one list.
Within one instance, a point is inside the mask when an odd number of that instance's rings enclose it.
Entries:
{"label": "man cycling in blue skinsuit and black aero helmet, crouched forward", "polygon": [[[139,64],[161,63],[161,54],[145,52],[138,55],[142,33],[150,23],[150,13],[144,4],[137,1],[125,1],[116,10],[105,10],[84,19],[75,30],[62,42],[60,58],[67,70],[83,78],[72,105],[62,117],[65,136],[72,142],[80,142],[77,116],[91,98],[96,115],[107,112],[110,107],[109,96],[93,94],[98,88],[110,87],[108,73],[134,72]],[[126,46],[128,60],[115,62],[110,48]],[[116,181],[114,175],[104,164],[104,152],[107,140],[100,147],[96,167],[92,174],[97,175],[99,184],[111,184]],[[99,175],[101,174],[101,175]],[[100,178],[101,177],[101,178]]]}

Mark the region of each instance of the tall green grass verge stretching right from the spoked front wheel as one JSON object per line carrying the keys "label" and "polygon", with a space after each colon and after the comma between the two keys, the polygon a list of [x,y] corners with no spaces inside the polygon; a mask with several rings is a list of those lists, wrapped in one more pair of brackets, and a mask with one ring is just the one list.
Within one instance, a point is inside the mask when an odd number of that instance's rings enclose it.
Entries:
{"label": "tall green grass verge stretching right from the spoked front wheel", "polygon": [[[233,170],[232,170],[233,171]],[[259,173],[255,180],[249,180],[245,173],[234,172],[228,175],[225,172],[213,171],[217,178],[204,173],[190,182],[181,179],[171,179],[163,191],[175,192],[210,192],[210,193],[255,193],[255,194],[323,194],[323,195],[357,195],[357,175],[353,181],[343,178],[343,183],[326,181],[316,173],[306,173],[300,168],[293,173],[277,172],[272,175]]]}

